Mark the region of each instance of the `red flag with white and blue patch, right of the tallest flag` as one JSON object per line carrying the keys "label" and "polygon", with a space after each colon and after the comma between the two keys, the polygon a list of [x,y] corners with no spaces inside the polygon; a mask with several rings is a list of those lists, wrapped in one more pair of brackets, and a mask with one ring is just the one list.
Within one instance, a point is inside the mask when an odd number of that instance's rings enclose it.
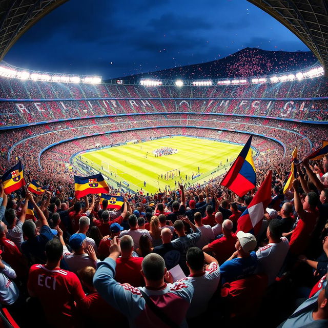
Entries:
{"label": "red flag with white and blue patch, right of the tallest flag", "polygon": [[272,171],[268,173],[248,208],[239,217],[237,231],[250,232],[253,235],[259,232],[264,210],[271,202],[271,182]]}

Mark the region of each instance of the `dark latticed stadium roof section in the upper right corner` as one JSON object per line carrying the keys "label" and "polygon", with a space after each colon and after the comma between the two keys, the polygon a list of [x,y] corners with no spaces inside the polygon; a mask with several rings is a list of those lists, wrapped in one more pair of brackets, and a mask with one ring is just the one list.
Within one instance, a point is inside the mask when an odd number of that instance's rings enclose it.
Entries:
{"label": "dark latticed stadium roof section in the upper right corner", "polygon": [[328,76],[326,0],[248,0],[297,35],[312,50]]}

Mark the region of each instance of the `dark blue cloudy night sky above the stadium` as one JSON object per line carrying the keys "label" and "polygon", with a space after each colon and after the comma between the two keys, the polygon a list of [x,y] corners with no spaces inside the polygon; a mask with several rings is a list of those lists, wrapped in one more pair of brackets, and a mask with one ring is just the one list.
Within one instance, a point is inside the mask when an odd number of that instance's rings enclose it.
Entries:
{"label": "dark blue cloudy night sky above the stadium", "polygon": [[39,20],[4,60],[107,79],[203,63],[245,47],[309,51],[246,0],[70,0]]}

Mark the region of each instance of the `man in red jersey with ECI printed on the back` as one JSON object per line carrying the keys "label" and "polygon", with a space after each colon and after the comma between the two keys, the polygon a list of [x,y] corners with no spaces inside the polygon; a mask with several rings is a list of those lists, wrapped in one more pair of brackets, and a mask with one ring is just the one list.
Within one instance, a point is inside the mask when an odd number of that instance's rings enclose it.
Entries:
{"label": "man in red jersey with ECI printed on the back", "polygon": [[59,268],[63,245],[58,239],[46,244],[46,264],[32,265],[28,279],[28,292],[42,303],[46,319],[51,326],[67,328],[76,326],[74,301],[88,309],[86,297],[77,276]]}

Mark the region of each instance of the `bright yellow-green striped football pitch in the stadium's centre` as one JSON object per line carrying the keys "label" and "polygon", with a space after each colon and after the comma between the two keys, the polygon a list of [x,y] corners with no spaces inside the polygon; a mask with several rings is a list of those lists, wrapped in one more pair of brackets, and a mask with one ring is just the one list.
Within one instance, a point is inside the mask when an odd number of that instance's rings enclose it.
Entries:
{"label": "bright yellow-green striped football pitch in the stadium's centre", "polygon": [[[177,149],[178,152],[155,157],[153,151],[162,147],[171,147]],[[113,181],[127,181],[129,188],[134,191],[142,188],[145,192],[155,193],[158,188],[165,189],[166,185],[175,189],[175,180],[177,186],[181,181],[180,178],[186,182],[186,174],[190,177],[187,182],[192,184],[209,181],[226,172],[226,168],[229,169],[241,148],[242,146],[224,142],[178,136],[96,150],[77,155],[77,157],[106,175],[110,184],[115,187],[117,185]],[[221,166],[220,162],[222,162]],[[198,167],[200,176],[192,180],[192,174],[198,174]],[[175,169],[180,171],[180,176],[165,180],[165,174]],[[160,177],[161,174],[163,179]],[[147,182],[145,188],[144,181]],[[122,186],[124,187],[124,184]]]}

